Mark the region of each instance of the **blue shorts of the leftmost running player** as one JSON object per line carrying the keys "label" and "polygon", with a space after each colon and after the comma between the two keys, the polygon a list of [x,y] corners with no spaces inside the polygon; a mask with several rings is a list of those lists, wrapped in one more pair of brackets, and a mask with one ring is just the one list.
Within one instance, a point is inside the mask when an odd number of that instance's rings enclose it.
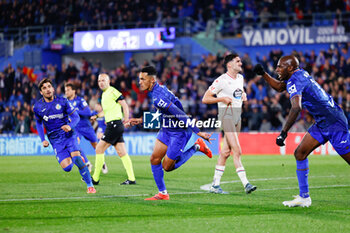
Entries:
{"label": "blue shorts of the leftmost running player", "polygon": [[71,153],[74,151],[80,151],[77,135],[71,134],[70,137],[60,138],[60,140],[50,140],[53,151],[56,154],[58,163],[61,163],[64,159],[71,157]]}

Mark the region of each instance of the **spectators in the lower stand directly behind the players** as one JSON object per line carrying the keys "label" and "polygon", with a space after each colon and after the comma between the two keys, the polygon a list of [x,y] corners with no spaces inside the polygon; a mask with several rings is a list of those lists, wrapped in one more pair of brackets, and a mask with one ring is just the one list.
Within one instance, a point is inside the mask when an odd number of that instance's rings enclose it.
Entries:
{"label": "spectators in the lower stand directly behind the players", "polygon": [[[294,51],[300,60],[300,67],[307,70],[315,80],[333,96],[342,106],[350,119],[350,43],[338,44],[334,48],[316,54]],[[265,70],[273,74],[278,59],[283,55],[281,50],[272,50],[269,54],[257,54],[256,60]],[[208,119],[217,116],[216,105],[201,102],[208,86],[220,74],[225,72],[222,64],[224,54],[203,56],[198,66],[192,66],[180,55],[158,53],[151,61],[137,64],[131,58],[113,70],[106,70],[99,61],[81,59],[81,66],[70,62],[61,68],[53,65],[42,66],[41,73],[35,82],[22,72],[21,68],[8,65],[0,72],[0,132],[27,134],[36,133],[32,106],[41,97],[37,84],[43,77],[49,77],[56,85],[57,95],[64,95],[64,84],[72,82],[79,87],[78,93],[85,98],[92,110],[100,101],[101,91],[97,77],[107,72],[111,85],[125,96],[132,117],[141,117],[151,106],[150,96],[141,92],[138,87],[138,71],[145,65],[154,65],[161,84],[167,85],[182,102],[186,113],[197,119]],[[243,74],[248,101],[242,112],[242,131],[279,131],[290,108],[287,92],[277,93],[260,76],[253,72],[252,59],[244,54]],[[275,76],[276,77],[276,76]],[[292,131],[305,131],[313,122],[312,117],[303,110]],[[135,126],[131,130],[141,130]]]}

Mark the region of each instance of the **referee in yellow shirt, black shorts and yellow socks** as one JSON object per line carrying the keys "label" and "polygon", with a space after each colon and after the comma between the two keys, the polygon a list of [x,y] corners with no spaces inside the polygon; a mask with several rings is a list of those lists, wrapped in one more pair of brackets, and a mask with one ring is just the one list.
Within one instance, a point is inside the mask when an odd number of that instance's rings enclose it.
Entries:
{"label": "referee in yellow shirt, black shorts and yellow socks", "polygon": [[107,74],[100,74],[98,76],[98,85],[103,91],[101,98],[103,111],[92,116],[91,119],[96,120],[104,116],[107,127],[96,146],[95,171],[92,176],[92,181],[94,184],[99,183],[105,160],[104,152],[108,147],[113,145],[128,175],[128,179],[121,183],[121,185],[134,185],[136,184],[134,170],[132,168],[130,156],[126,151],[123,138],[124,125],[122,118],[124,115],[124,121],[129,121],[129,107],[125,102],[124,96],[117,89],[110,86],[110,80]]}

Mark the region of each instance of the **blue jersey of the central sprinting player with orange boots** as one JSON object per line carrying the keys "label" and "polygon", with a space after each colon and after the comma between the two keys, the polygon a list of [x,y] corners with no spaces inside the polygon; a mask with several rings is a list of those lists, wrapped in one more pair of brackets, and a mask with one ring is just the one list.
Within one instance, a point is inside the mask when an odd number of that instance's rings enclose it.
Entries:
{"label": "blue jersey of the central sprinting player with orange boots", "polygon": [[[168,118],[173,122],[182,120],[186,122],[189,118],[187,117],[180,100],[166,88],[165,86],[159,85],[157,82],[153,86],[151,91],[152,94],[152,103],[159,109],[162,113],[162,118]],[[164,122],[164,121],[163,121]],[[162,125],[163,127],[163,125]],[[164,128],[164,127],[163,127]],[[179,126],[168,125],[168,129],[180,129]],[[199,132],[197,127],[189,126],[195,133]]]}

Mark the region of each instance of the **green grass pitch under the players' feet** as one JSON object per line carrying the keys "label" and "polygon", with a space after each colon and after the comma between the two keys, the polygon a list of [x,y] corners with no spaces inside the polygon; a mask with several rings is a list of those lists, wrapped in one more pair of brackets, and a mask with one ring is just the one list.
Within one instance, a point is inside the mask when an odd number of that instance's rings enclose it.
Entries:
{"label": "green grass pitch under the players' feet", "polygon": [[[107,156],[95,195],[86,194],[76,167],[62,171],[54,156],[0,157],[0,232],[350,232],[350,167],[339,156],[310,156],[310,208],[282,201],[298,194],[293,156],[243,156],[245,194],[232,159],[222,188],[209,194],[217,156],[194,156],[165,173],[170,201],[157,193],[148,156],[131,156],[137,185],[121,186],[119,157]],[[89,159],[94,162],[93,157]]]}

